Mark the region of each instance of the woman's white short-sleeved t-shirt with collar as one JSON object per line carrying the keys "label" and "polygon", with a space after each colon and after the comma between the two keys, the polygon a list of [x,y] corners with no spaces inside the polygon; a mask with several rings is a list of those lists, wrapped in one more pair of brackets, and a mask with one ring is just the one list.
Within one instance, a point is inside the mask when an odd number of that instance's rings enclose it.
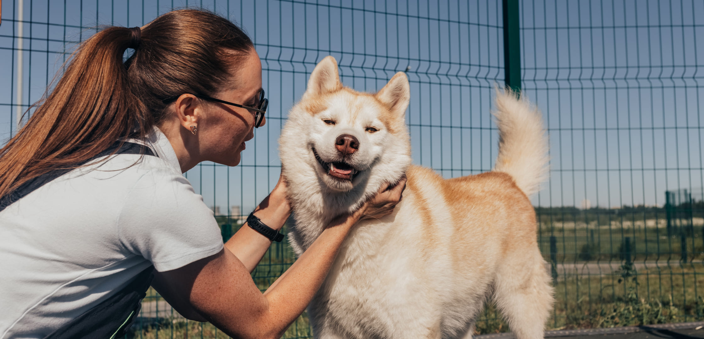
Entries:
{"label": "woman's white short-sleeved t-shirt with collar", "polygon": [[0,339],[44,338],[150,265],[220,252],[213,211],[165,135],[154,128],[142,143],[159,157],[112,156],[0,211]]}

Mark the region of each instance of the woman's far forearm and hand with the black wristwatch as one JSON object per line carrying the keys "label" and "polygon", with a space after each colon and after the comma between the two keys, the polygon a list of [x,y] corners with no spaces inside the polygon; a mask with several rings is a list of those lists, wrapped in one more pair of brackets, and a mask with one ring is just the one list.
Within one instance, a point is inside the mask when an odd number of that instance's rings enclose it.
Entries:
{"label": "woman's far forearm and hand with the black wristwatch", "polygon": [[[281,230],[290,214],[291,206],[286,199],[286,181],[281,176],[270,195],[254,209],[254,215],[266,226]],[[244,223],[225,243],[225,247],[230,249],[239,261],[242,261],[250,273],[254,271],[270,246],[271,240],[247,226],[247,223]]]}

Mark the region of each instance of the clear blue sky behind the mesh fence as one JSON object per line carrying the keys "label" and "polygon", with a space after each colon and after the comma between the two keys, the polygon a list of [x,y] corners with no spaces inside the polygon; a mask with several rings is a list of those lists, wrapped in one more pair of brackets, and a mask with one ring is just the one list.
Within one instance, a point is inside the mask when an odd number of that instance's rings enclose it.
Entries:
{"label": "clear blue sky behind the mesh fence", "polygon": [[[2,0],[0,139],[17,104],[18,0]],[[521,1],[524,94],[551,137],[541,206],[663,204],[664,191],[703,186],[699,82],[704,3]],[[203,6],[256,43],[271,101],[240,166],[187,173],[209,206],[249,211],[279,174],[277,137],[315,63],[333,55],[345,85],[373,92],[406,70],[415,164],[446,178],[491,169],[498,137],[492,88],[503,84],[501,1],[25,0],[23,99],[42,96],[62,54],[96,25],[132,27],[173,7]],[[704,103],[703,103],[704,104]]]}

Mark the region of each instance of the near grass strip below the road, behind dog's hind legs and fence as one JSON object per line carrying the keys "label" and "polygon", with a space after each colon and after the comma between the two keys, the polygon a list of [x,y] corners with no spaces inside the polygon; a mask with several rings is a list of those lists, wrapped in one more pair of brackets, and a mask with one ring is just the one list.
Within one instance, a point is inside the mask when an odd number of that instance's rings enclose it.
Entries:
{"label": "near grass strip below the road, behind dog's hind legs and fence", "polygon": [[[550,329],[605,328],[704,320],[704,266],[636,271],[623,265],[603,276],[572,276],[555,283]],[[508,331],[493,305],[477,334]]]}

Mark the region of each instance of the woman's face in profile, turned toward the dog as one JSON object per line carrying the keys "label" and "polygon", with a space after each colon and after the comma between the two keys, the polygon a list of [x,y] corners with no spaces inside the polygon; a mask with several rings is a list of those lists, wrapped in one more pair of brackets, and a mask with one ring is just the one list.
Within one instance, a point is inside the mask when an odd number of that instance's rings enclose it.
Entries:
{"label": "woman's face in profile, turned toward the dog", "polygon": [[[262,64],[254,49],[240,60],[234,86],[213,97],[234,104],[256,106],[262,90]],[[228,104],[209,102],[199,122],[198,134],[203,160],[235,166],[241,160],[245,142],[254,137],[254,112]],[[266,123],[266,118],[261,125]]]}

